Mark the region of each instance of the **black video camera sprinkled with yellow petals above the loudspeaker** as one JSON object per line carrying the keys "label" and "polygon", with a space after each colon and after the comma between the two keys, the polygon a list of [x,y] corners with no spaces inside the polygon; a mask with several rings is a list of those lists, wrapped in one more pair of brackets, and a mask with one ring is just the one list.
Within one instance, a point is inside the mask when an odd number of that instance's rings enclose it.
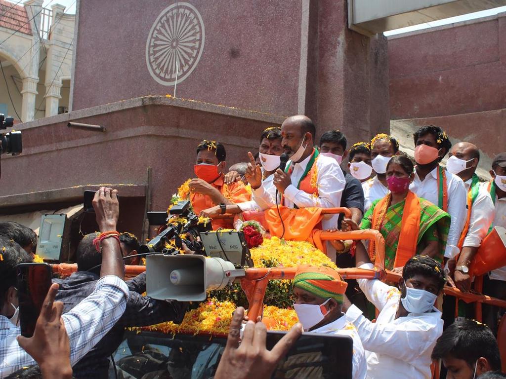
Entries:
{"label": "black video camera sprinkled with yellow petals above the loudspeaker", "polygon": [[[150,220],[159,220],[158,222],[150,222],[150,224],[161,224],[160,213],[166,214],[165,212],[148,212]],[[203,245],[197,241],[197,237],[200,232],[212,230],[211,223],[199,224],[198,216],[191,211],[189,201],[178,202],[168,213],[168,217],[163,222],[166,227],[154,239],[142,245],[139,248],[139,254],[156,252],[176,255],[179,254],[179,249],[183,248],[184,243],[195,254],[205,255]],[[174,243],[170,244],[170,241],[174,241]]]}

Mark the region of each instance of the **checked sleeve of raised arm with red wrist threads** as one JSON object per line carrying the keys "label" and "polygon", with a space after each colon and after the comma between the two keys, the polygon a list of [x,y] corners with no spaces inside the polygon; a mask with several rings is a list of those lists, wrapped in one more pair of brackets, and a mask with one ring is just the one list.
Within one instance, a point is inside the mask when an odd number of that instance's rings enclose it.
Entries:
{"label": "checked sleeve of raised arm with red wrist threads", "polygon": [[129,289],[117,276],[97,281],[95,290],[69,312],[62,315],[70,341],[70,362],[77,363],[123,315]]}

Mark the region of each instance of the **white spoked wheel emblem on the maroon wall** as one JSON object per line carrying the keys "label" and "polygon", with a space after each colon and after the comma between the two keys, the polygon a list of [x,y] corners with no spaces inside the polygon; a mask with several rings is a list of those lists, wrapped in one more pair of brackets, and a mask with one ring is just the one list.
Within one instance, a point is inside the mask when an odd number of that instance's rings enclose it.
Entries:
{"label": "white spoked wheel emblem on the maroon wall", "polygon": [[185,80],[200,60],[204,40],[204,23],[195,7],[176,3],[165,8],[146,42],[146,64],[153,79],[163,85]]}

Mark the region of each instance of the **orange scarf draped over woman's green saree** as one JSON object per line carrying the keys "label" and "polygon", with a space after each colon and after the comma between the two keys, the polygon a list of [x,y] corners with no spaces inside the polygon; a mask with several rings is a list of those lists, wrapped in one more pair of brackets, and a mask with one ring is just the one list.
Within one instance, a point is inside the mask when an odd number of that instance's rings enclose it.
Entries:
{"label": "orange scarf draped over woman's green saree", "polygon": [[[385,221],[388,207],[391,204],[392,194],[380,200],[372,212],[372,229],[381,230]],[[402,211],[401,232],[395,254],[394,267],[403,267],[406,262],[416,254],[418,233],[420,230],[420,201],[418,197],[408,191]],[[369,244],[369,256],[374,259],[374,244]]]}

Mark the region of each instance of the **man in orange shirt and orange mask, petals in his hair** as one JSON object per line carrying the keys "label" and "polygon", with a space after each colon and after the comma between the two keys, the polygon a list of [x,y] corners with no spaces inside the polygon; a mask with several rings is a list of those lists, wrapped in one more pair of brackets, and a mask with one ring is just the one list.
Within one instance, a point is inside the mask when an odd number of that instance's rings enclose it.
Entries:
{"label": "man in orange shirt and orange mask, petals in his hair", "polygon": [[[195,175],[188,186],[193,211],[200,214],[203,210],[219,206],[226,213],[227,204],[243,203],[251,199],[250,192],[242,181],[224,183],[227,162],[225,147],[216,141],[203,140],[197,146]],[[230,221],[214,220],[213,228],[232,228]]]}

